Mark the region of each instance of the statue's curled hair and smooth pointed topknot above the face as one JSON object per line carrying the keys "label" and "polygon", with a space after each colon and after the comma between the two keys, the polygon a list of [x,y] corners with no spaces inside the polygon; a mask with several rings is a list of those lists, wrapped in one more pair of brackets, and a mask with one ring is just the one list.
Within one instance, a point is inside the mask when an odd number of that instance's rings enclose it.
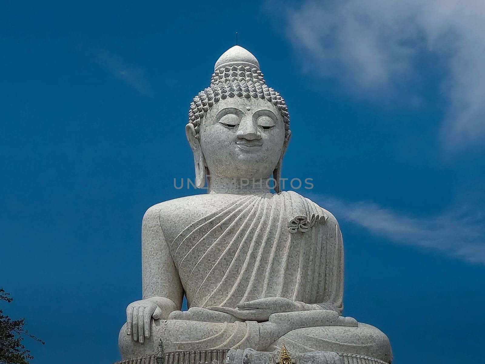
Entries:
{"label": "statue's curled hair and smooth pointed topknot above the face", "polygon": [[189,123],[194,125],[196,137],[200,123],[209,109],[219,100],[233,97],[265,99],[279,110],[285,122],[285,142],[290,140],[290,115],[285,100],[275,89],[268,87],[259,70],[256,57],[240,46],[226,50],[217,60],[210,87],[199,92],[190,104]]}

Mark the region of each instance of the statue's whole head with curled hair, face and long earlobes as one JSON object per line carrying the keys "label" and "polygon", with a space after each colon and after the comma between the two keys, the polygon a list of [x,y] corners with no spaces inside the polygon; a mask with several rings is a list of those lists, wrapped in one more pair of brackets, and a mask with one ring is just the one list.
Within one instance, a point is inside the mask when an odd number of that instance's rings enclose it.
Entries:
{"label": "statue's whole head with curled hair, face and long earlobes", "polygon": [[190,105],[187,139],[194,152],[195,181],[206,177],[275,179],[290,140],[288,108],[266,85],[258,60],[240,46],[216,62],[210,86]]}

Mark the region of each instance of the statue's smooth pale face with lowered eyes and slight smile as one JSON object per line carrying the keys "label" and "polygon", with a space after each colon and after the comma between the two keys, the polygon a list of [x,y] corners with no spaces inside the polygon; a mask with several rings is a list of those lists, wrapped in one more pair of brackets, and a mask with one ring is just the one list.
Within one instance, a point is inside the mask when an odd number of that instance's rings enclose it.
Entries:
{"label": "statue's smooth pale face with lowered eyes and slight smile", "polygon": [[204,116],[199,132],[210,175],[269,178],[283,153],[283,117],[264,99],[220,100]]}

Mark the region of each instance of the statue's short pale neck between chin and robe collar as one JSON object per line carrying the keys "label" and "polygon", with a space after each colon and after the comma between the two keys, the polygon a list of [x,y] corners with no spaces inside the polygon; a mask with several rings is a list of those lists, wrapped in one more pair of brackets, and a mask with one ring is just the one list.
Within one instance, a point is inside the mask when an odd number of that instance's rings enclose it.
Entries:
{"label": "statue's short pale neck between chin and robe collar", "polygon": [[210,176],[208,178],[207,193],[228,193],[232,195],[259,195],[270,193],[273,182],[268,178],[225,178]]}

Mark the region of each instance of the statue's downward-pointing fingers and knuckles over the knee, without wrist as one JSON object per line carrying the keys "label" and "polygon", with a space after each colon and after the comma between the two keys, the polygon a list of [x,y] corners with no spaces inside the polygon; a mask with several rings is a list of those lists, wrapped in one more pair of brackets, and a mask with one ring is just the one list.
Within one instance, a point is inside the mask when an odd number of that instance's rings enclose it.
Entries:
{"label": "statue's downward-pointing fingers and knuckles over the knee, without wrist", "polygon": [[160,318],[161,314],[162,310],[157,304],[149,300],[130,303],[126,309],[126,334],[143,344],[145,337],[150,336],[151,318]]}

